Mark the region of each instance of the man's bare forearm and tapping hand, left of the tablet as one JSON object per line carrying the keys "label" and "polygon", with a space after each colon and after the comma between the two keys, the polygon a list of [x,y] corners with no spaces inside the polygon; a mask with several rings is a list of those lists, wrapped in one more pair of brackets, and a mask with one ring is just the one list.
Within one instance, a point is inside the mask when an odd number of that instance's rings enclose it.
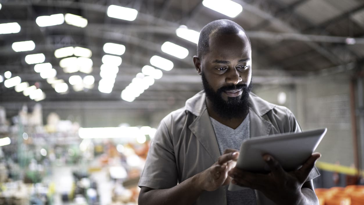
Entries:
{"label": "man's bare forearm and tapping hand, left of the tablet", "polygon": [[214,191],[230,183],[227,173],[236,165],[238,152],[229,152],[219,157],[218,162],[208,169],[186,179],[169,189],[141,187],[138,204],[140,205],[188,205],[193,204],[201,193]]}

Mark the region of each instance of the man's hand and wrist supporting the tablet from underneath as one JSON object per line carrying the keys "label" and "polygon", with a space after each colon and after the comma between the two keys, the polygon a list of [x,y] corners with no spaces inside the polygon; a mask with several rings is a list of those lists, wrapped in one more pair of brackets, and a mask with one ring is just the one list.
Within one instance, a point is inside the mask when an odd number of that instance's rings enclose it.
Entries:
{"label": "man's hand and wrist supporting the tablet from underneath", "polygon": [[300,169],[286,172],[277,160],[265,154],[263,159],[271,170],[269,174],[252,173],[237,167],[228,174],[233,178],[232,183],[260,190],[277,204],[300,204],[304,200],[301,187],[320,156],[320,153],[313,153]]}

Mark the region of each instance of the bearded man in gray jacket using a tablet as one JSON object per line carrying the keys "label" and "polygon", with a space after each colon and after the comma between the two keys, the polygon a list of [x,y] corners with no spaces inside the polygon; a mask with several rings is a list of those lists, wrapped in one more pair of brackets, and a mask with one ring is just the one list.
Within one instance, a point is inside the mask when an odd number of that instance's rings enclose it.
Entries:
{"label": "bearded man in gray jacket using a tablet", "polygon": [[[202,29],[193,62],[203,91],[159,124],[138,184],[140,205],[318,204],[311,181],[318,153],[293,172],[268,154],[269,174],[234,167],[243,139],[301,131],[287,108],[250,93],[251,53],[245,31],[230,20]],[[230,192],[230,181],[251,189]]]}

